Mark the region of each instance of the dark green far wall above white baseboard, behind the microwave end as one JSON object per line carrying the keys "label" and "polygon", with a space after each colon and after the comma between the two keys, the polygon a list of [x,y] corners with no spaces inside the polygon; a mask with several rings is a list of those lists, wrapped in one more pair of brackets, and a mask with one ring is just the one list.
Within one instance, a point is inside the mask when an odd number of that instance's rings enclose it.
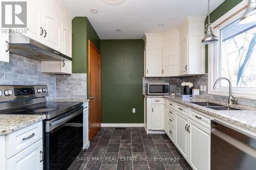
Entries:
{"label": "dark green far wall above white baseboard, behind the microwave end", "polygon": [[143,123],[144,41],[101,40],[100,49],[101,122]]}

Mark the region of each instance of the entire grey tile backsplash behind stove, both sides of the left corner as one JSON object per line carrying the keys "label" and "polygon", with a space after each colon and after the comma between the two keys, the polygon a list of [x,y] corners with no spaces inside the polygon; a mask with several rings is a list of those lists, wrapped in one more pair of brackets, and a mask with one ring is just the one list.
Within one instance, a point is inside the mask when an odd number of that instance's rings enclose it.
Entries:
{"label": "entire grey tile backsplash behind stove, both sides of the left corner", "polygon": [[41,72],[41,61],[10,54],[0,61],[0,85],[47,85],[47,100],[86,99],[87,74],[53,75]]}

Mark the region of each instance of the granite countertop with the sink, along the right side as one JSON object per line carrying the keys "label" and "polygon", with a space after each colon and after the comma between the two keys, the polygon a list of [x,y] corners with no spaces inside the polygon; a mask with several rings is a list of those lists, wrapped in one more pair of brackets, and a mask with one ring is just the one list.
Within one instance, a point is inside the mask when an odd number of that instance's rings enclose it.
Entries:
{"label": "granite countertop with the sink, along the right side", "polygon": [[[170,101],[176,102],[178,104],[184,105],[186,107],[198,110],[210,116],[219,118],[226,122],[232,123],[234,125],[246,128],[248,130],[256,132],[256,108],[244,105],[229,105],[226,102],[206,99],[206,98],[191,98],[191,99],[182,99],[177,97],[168,97],[168,96],[153,96],[153,95],[144,95],[146,98],[165,98]],[[224,105],[232,108],[242,109],[242,110],[213,110],[206,108],[204,106],[199,106],[191,102],[209,102],[219,105]]]}

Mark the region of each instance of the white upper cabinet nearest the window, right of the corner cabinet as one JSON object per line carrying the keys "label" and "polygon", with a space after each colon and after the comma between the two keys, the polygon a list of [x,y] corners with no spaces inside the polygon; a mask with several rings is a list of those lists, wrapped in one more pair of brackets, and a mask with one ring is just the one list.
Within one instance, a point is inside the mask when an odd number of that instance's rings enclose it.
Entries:
{"label": "white upper cabinet nearest the window, right of the corner cabinet", "polygon": [[204,17],[188,17],[180,26],[180,75],[205,74]]}

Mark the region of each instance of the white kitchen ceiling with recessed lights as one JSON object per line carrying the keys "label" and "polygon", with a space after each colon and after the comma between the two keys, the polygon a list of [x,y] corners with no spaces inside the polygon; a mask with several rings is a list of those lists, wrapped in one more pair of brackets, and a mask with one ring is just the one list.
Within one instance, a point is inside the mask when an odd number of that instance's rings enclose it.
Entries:
{"label": "white kitchen ceiling with recessed lights", "polygon": [[[176,29],[187,16],[207,15],[207,0],[126,0],[119,5],[102,0],[60,1],[74,16],[87,16],[100,39],[139,39],[144,33]],[[211,11],[224,1],[210,1]],[[92,8],[99,12],[91,13]],[[160,23],[164,27],[158,27]]]}

